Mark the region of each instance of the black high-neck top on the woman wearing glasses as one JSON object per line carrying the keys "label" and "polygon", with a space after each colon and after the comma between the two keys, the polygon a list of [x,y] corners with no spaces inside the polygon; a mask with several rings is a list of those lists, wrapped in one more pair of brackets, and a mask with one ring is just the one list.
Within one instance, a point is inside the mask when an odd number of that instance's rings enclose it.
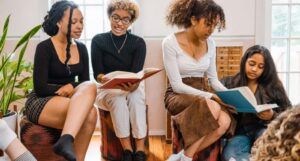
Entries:
{"label": "black high-neck top on the woman wearing glasses", "polygon": [[[95,79],[99,74],[117,70],[136,73],[143,69],[146,57],[145,41],[129,32],[126,34],[116,36],[112,32],[107,32],[93,38],[91,57]],[[118,53],[124,41],[124,47]]]}

